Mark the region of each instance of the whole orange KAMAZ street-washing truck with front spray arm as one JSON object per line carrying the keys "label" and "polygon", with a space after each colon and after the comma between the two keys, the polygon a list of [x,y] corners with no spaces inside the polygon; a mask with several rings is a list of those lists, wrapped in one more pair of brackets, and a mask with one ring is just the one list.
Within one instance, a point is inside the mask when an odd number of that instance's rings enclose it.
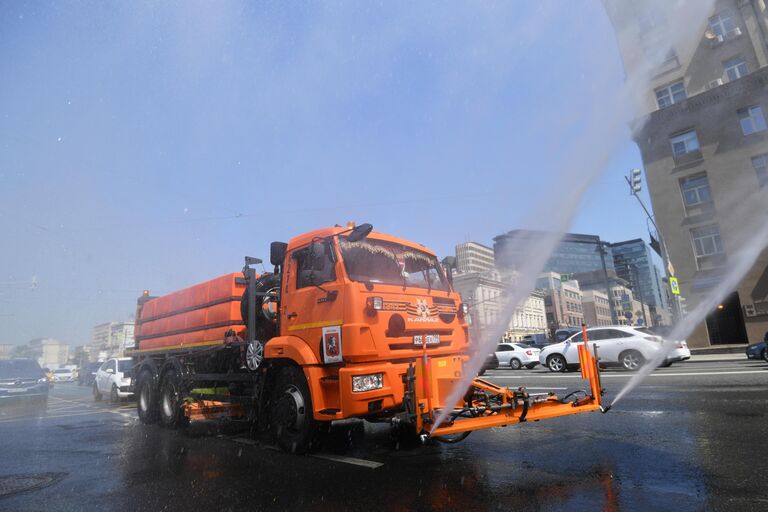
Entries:
{"label": "whole orange KAMAZ street-washing truck with front spray arm", "polygon": [[[142,422],[241,417],[303,453],[349,418],[456,441],[601,408],[589,343],[580,349],[589,389],[580,393],[465,379],[467,305],[451,269],[420,244],[350,224],[273,242],[270,261],[273,272],[257,273],[261,260],[246,257],[242,273],[139,298],[132,355]],[[470,384],[446,403],[459,383]]]}

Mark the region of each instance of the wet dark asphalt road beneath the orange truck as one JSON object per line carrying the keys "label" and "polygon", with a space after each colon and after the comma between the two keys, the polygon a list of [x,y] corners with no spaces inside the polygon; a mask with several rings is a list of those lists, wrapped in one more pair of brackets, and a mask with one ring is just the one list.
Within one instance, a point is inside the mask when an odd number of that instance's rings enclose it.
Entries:
{"label": "wet dark asphalt road beneath the orange truck", "polygon": [[[631,374],[603,376],[610,400]],[[532,392],[582,382],[543,369],[486,377]],[[295,456],[237,424],[147,427],[133,404],[57,384],[47,408],[0,408],[0,510],[765,511],[768,365],[680,363],[608,414],[456,445],[398,446],[367,424],[335,429],[326,444]],[[27,482],[38,485],[8,494]]]}

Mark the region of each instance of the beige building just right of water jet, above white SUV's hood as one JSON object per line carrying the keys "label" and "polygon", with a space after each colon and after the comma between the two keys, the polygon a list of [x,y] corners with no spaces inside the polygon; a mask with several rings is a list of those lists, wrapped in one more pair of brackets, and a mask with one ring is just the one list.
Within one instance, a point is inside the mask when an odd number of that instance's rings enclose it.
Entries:
{"label": "beige building just right of water jet, above white SUV's hood", "polygon": [[547,327],[550,334],[563,327],[579,327],[584,323],[582,292],[578,281],[558,272],[544,272],[536,281],[536,288],[544,292]]}

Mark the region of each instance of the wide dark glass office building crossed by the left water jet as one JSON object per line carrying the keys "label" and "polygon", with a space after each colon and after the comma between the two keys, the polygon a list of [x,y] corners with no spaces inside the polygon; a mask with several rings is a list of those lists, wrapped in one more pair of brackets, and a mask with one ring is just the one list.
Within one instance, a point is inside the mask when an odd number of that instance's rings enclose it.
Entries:
{"label": "wide dark glass office building crossed by the left water jet", "polygon": [[[500,269],[509,269],[517,261],[521,251],[528,250],[542,236],[549,233],[516,229],[493,239],[496,264]],[[566,233],[549,257],[543,272],[572,274],[593,270],[613,270],[610,244],[596,235]]]}

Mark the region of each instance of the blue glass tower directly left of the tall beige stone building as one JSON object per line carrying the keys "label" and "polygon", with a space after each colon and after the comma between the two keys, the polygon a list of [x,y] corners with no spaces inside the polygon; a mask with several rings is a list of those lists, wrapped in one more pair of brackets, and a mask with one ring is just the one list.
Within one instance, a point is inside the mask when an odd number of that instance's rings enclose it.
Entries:
{"label": "blue glass tower directly left of the tall beige stone building", "polygon": [[647,304],[653,316],[653,324],[660,323],[663,310],[669,309],[666,285],[653,262],[651,248],[642,239],[611,244],[616,274],[630,283],[635,297]]}

